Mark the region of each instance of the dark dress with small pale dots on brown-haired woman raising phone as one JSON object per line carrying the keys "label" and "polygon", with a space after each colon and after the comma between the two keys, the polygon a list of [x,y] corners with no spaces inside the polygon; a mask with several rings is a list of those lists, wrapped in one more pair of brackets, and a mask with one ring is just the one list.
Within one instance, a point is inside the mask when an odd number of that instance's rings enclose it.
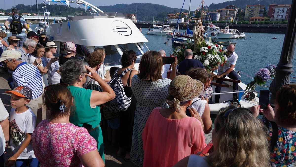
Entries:
{"label": "dark dress with small pale dots on brown-haired woman raising phone", "polygon": [[131,80],[131,89],[137,99],[135,121],[133,125],[133,140],[131,146],[131,162],[143,166],[144,150],[142,132],[150,113],[156,107],[168,108],[165,103],[168,96],[168,86],[171,80],[159,79],[156,82],[141,80],[134,75]]}

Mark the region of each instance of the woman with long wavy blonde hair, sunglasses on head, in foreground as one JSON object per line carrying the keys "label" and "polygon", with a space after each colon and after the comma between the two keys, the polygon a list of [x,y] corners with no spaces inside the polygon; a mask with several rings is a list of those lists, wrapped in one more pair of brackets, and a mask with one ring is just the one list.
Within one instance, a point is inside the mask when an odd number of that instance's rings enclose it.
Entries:
{"label": "woman with long wavy blonde hair, sunglasses on head, in foreground", "polygon": [[246,108],[221,108],[214,122],[214,151],[208,157],[190,155],[174,167],[269,166],[266,127]]}

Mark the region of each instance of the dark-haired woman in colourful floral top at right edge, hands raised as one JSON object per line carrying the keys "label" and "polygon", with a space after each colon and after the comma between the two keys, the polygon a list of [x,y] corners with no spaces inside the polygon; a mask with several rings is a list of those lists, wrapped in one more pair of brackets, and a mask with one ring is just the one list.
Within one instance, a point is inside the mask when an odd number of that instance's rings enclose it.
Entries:
{"label": "dark-haired woman in colourful floral top at right edge, hands raised", "polygon": [[[272,137],[277,127],[276,143],[270,155],[270,166],[292,166],[296,160],[296,84],[284,85],[276,93],[274,110],[268,104],[267,109],[260,109],[268,119],[263,122],[268,126],[268,143],[275,141]],[[251,108],[259,114],[259,106]],[[271,121],[275,122],[274,127]],[[276,134],[276,133],[274,133]]]}

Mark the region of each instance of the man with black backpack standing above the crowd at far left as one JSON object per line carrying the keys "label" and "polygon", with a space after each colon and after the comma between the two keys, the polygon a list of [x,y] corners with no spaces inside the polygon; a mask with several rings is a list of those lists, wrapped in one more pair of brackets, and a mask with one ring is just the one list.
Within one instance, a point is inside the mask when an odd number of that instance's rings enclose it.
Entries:
{"label": "man with black backpack standing above the crowd at far left", "polygon": [[[20,17],[20,16],[19,16],[19,11],[18,11],[17,8],[12,8],[12,16],[14,16],[15,18]],[[8,26],[8,24],[9,24],[9,23],[12,24],[12,23],[11,23],[12,20],[13,20],[12,16],[9,16],[9,17],[7,18],[7,20],[4,22],[4,26],[5,26],[6,29],[8,29],[9,31],[11,31],[11,29],[10,29],[10,27]],[[26,21],[25,21],[25,18],[21,17],[21,18],[20,18],[20,22],[21,22],[23,28],[25,28],[25,29],[28,29],[28,28],[29,28],[28,25],[27,25],[27,23],[26,23]],[[26,34],[25,34],[25,31],[22,31],[21,33],[18,33],[18,34],[15,33],[15,32],[12,32],[12,35],[16,36],[17,39],[20,40],[18,47],[22,47],[22,44],[24,43],[24,41],[25,41],[25,39],[26,39],[26,37],[27,37]]]}

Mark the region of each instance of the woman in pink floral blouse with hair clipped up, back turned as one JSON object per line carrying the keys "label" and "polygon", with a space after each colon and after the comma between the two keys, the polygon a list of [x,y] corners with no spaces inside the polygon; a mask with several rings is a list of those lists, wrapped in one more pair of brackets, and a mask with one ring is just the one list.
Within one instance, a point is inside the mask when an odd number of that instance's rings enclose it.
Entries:
{"label": "woman in pink floral blouse with hair clipped up, back turned", "polygon": [[44,103],[50,119],[32,134],[34,153],[41,166],[104,166],[96,140],[84,127],[69,122],[73,97],[63,85],[47,86]]}

